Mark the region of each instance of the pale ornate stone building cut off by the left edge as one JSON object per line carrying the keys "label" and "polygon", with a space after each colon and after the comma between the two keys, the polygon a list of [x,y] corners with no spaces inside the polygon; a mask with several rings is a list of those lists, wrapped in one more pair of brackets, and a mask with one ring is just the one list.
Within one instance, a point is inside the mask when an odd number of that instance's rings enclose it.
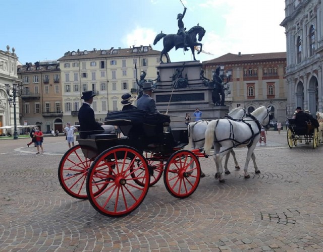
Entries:
{"label": "pale ornate stone building cut off by the left edge", "polygon": [[[14,108],[11,98],[6,92],[6,84],[10,85],[11,90],[13,83],[20,84],[17,75],[18,57],[15,53],[15,48],[10,51],[10,46],[7,45],[7,50],[0,50],[0,127],[14,126]],[[12,91],[10,91],[12,92]],[[19,104],[16,100],[16,118],[19,125]],[[8,130],[11,133],[11,130]],[[0,129],[0,136],[6,134],[6,130]],[[12,133],[13,134],[13,130]]]}

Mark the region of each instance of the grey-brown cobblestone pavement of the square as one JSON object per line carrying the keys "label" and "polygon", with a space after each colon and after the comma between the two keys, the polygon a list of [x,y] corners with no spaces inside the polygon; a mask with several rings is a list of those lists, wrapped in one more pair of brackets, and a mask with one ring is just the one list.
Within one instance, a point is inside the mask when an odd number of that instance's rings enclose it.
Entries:
{"label": "grey-brown cobblestone pavement of the square", "polygon": [[[64,137],[44,140],[42,155],[28,139],[0,141],[1,251],[323,251],[323,168],[320,145],[287,146],[270,131],[255,150],[261,171],[234,170],[214,179],[212,158],[195,193],[176,199],[163,179],[137,210],[122,218],[96,212],[68,196],[58,181]],[[246,149],[237,149],[243,167]]]}

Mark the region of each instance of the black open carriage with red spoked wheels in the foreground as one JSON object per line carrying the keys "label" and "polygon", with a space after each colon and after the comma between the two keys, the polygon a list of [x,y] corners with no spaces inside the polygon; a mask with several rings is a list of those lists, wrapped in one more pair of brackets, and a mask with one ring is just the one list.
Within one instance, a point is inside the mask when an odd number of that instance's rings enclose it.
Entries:
{"label": "black open carriage with red spoked wheels in the foreground", "polygon": [[77,137],[79,145],[65,153],[58,170],[67,194],[89,199],[99,213],[112,217],[134,211],[163,172],[171,195],[189,197],[200,180],[198,157],[204,156],[198,150],[183,150],[188,144],[187,130],[172,131],[169,116],[129,111],[109,113],[104,121],[118,126],[125,137]]}

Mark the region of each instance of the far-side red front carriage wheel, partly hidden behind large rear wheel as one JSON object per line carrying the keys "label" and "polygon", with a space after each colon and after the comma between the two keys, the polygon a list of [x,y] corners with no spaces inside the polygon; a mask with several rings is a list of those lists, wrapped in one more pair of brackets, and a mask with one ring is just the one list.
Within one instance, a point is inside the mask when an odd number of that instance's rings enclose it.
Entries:
{"label": "far-side red front carriage wheel, partly hidden behind large rear wheel", "polygon": [[[157,160],[153,160],[153,154],[149,153],[149,152],[144,152],[143,156],[145,157],[147,164],[148,164],[148,169],[149,169],[149,174],[150,174],[150,183],[149,185],[152,186],[154,184],[156,184],[161,175],[163,175],[163,170],[164,170],[164,162],[162,161],[157,161]],[[141,163],[138,163],[137,166],[141,166]],[[140,185],[140,186],[144,186],[144,181],[143,179],[136,179],[136,178],[140,178],[140,173],[144,172],[144,169],[141,168],[139,170],[136,170],[135,172],[131,173],[131,176],[134,179],[134,181]]]}

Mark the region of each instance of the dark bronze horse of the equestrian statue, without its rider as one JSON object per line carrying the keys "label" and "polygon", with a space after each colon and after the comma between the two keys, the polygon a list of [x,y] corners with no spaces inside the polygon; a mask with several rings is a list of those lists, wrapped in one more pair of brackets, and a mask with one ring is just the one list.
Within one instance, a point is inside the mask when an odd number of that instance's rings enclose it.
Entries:
{"label": "dark bronze horse of the equestrian statue, without its rider", "polygon": [[[199,45],[200,50],[197,52],[199,54],[202,51],[202,44],[198,43],[196,41],[196,35],[198,34],[198,41],[201,41],[204,34],[205,30],[202,26],[193,26],[189,31],[187,32],[187,44],[191,48],[193,58],[195,58],[195,52],[194,52],[194,46]],[[161,58],[163,55],[166,56],[167,62],[170,62],[170,58],[168,56],[168,52],[175,46],[175,49],[177,50],[178,48],[183,48],[184,47],[184,42],[183,42],[183,37],[182,35],[177,35],[177,34],[164,34],[163,32],[159,33],[156,37],[155,40],[153,41],[153,44],[155,45],[161,38],[164,38],[163,44],[164,44],[164,49],[160,53],[160,62],[163,62]]]}

